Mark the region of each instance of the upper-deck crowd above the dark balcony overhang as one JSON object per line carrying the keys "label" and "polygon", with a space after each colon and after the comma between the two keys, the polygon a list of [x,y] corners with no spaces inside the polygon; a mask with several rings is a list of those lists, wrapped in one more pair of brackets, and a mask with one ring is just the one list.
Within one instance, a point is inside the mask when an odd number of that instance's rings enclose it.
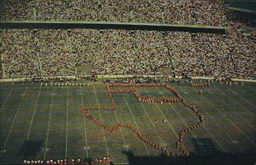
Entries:
{"label": "upper-deck crowd above the dark balcony overhang", "polygon": [[109,21],[227,26],[223,2],[2,0],[2,20]]}

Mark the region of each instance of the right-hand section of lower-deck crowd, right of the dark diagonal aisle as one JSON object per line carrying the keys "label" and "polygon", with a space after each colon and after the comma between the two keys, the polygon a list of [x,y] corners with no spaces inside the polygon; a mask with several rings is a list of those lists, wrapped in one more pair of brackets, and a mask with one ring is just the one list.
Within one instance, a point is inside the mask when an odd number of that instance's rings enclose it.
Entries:
{"label": "right-hand section of lower-deck crowd, right of the dark diagonal aisle", "polygon": [[168,32],[165,36],[175,75],[255,78],[255,36],[237,29],[226,35]]}

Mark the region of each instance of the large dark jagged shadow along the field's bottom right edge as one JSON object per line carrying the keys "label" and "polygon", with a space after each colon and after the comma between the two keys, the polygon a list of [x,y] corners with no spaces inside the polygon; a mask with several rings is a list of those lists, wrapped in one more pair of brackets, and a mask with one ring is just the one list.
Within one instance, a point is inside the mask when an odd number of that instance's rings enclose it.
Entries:
{"label": "large dark jagged shadow along the field's bottom right edge", "polygon": [[[135,156],[131,151],[123,151],[129,164],[256,164],[255,151],[245,153],[223,153],[210,139],[191,139],[195,153],[190,151],[187,157]],[[114,163],[112,163],[114,164]]]}

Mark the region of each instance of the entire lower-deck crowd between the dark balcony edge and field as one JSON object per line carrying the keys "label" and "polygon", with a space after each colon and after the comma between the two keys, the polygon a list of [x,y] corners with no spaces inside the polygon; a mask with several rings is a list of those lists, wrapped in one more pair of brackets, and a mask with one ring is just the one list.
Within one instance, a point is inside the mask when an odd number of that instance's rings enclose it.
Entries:
{"label": "entire lower-deck crowd between the dark balcony edge and field", "polygon": [[173,67],[187,77],[255,78],[255,37],[235,27],[226,35],[4,29],[1,40],[6,78],[76,75],[76,66],[87,62],[99,75],[155,75]]}

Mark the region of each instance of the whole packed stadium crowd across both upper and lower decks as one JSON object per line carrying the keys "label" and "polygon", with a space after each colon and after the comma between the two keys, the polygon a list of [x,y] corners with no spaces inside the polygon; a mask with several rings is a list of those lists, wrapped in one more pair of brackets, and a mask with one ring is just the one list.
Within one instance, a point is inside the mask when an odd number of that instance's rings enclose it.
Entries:
{"label": "whole packed stadium crowd across both upper and lower decks", "polygon": [[[220,1],[6,1],[1,20],[117,21],[229,27],[225,35],[97,29],[3,29],[5,78],[92,73],[155,75],[170,68],[187,77],[255,77],[255,36],[225,17]],[[52,7],[54,6],[54,7]],[[41,65],[41,67],[40,67]],[[2,75],[1,75],[2,77]]]}

